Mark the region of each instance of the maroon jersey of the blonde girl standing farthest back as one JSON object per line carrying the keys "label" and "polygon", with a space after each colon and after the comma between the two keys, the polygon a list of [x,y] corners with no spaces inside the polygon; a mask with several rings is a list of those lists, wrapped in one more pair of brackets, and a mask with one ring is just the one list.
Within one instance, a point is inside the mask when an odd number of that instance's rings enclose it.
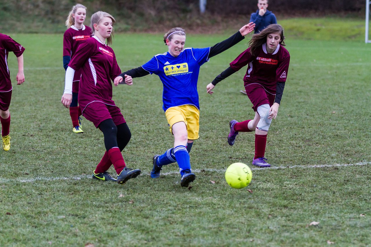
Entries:
{"label": "maroon jersey of the blonde girl standing farthest back", "polygon": [[[79,45],[86,39],[89,39],[92,34],[92,29],[85,25],[82,25],[82,29],[77,29],[75,26],[71,26],[63,34],[63,56],[70,56],[71,58],[75,55]],[[81,77],[81,71],[75,71],[73,81],[79,81]]]}

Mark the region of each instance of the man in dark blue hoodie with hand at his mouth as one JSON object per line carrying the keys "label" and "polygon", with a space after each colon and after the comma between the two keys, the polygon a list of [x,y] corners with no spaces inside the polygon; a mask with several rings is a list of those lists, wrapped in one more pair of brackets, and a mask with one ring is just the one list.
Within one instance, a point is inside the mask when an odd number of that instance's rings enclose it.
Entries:
{"label": "man in dark blue hoodie with hand at his mouth", "polygon": [[257,7],[259,9],[256,10],[255,13],[252,13],[250,18],[250,22],[255,23],[254,33],[260,33],[260,31],[265,29],[270,24],[277,24],[275,14],[267,10],[268,0],[258,0]]}

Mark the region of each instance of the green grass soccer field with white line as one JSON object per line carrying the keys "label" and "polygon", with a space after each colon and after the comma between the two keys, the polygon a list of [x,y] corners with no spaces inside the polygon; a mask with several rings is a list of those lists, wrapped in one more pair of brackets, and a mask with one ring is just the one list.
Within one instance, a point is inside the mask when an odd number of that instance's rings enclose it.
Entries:
{"label": "green grass soccer field with white line", "polygon": [[[187,34],[185,47],[212,46],[229,34]],[[177,164],[158,179],[149,176],[154,154],[173,144],[157,76],[113,90],[132,132],[123,156],[141,176],[124,185],[92,180],[105,151],[103,134],[85,119],[85,132],[72,133],[60,103],[63,34],[10,36],[26,47],[26,82],[14,83],[11,53],[12,147],[0,151],[0,246],[370,245],[370,44],[286,41],[290,69],[267,138],[272,167],[265,169],[251,166],[253,133],[227,144],[229,121],[254,116],[239,92],[246,70],[206,94],[247,40],[211,58],[198,80],[200,138],[190,153],[196,180],[183,188]],[[122,71],[167,51],[162,34],[116,34],[112,47]],[[240,190],[224,180],[235,162],[253,173]]]}

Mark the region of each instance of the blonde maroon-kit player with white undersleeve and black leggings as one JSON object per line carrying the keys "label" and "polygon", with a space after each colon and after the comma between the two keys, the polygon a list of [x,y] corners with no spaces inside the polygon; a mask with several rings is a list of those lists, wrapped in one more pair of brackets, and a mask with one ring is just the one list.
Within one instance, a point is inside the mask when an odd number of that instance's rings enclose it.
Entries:
{"label": "blonde maroon-kit player with white undersleeve and black leggings", "polygon": [[[83,116],[104,135],[106,152],[93,171],[92,178],[125,183],[137,177],[141,170],[126,167],[121,151],[131,138],[131,132],[121,110],[112,100],[112,81],[121,74],[112,44],[114,17],[102,11],[91,17],[93,37],[83,42],[72,57],[66,70],[65,91],[62,104],[69,107],[72,101],[72,78],[81,69],[79,105]],[[107,42],[107,44],[106,44]],[[132,77],[126,75],[125,83],[131,85]],[[117,180],[107,170],[115,167]]]}

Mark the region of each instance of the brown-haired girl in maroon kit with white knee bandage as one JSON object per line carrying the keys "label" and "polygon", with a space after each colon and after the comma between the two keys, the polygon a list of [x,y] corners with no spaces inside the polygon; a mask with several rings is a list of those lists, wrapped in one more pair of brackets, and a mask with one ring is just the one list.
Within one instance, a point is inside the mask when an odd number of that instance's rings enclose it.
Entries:
{"label": "brown-haired girl in maroon kit with white knee bandage", "polygon": [[270,24],[260,33],[254,34],[249,48],[206,87],[207,93],[212,94],[211,90],[219,81],[247,65],[243,81],[246,94],[253,104],[255,117],[240,123],[230,121],[228,144],[234,144],[239,132],[255,131],[255,156],[252,164],[258,167],[270,167],[264,157],[267,133],[272,119],[277,117],[290,63],[290,54],[283,47],[284,40],[282,26]]}

